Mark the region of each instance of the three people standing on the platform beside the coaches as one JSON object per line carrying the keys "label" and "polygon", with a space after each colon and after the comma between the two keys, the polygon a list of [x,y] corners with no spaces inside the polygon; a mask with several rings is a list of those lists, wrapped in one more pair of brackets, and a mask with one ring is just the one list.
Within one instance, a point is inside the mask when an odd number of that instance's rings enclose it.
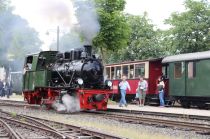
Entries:
{"label": "three people standing on the platform beside the coaches", "polygon": [[[122,77],[122,81],[119,84],[120,87],[120,93],[121,93],[121,99],[120,99],[120,107],[126,106],[127,107],[127,102],[126,102],[126,90],[128,89],[131,91],[129,83],[126,81],[127,77],[124,75]],[[163,81],[162,77],[159,77],[157,80],[157,92],[160,100],[160,107],[165,106],[164,102],[164,88],[165,88],[165,83]],[[138,101],[139,106],[144,106],[145,103],[145,97],[146,97],[146,92],[148,89],[148,83],[142,76],[139,76],[139,82],[138,86],[136,88],[136,99]]]}

